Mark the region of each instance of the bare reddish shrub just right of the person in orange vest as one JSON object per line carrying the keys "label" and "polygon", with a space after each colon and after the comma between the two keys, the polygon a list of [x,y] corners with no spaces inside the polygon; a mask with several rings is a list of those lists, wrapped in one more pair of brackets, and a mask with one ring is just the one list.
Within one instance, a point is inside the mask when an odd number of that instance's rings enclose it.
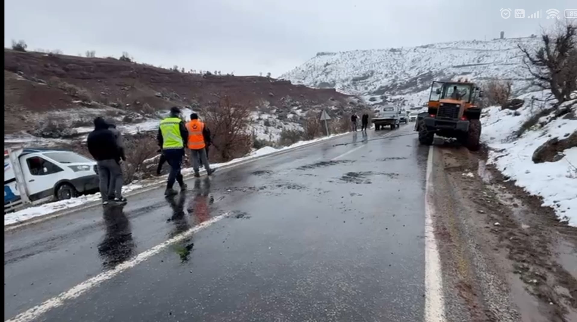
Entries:
{"label": "bare reddish shrub just right of the person in orange vest", "polygon": [[250,112],[249,104],[233,103],[228,96],[219,97],[216,105],[204,109],[205,123],[213,137],[212,160],[229,161],[250,152]]}

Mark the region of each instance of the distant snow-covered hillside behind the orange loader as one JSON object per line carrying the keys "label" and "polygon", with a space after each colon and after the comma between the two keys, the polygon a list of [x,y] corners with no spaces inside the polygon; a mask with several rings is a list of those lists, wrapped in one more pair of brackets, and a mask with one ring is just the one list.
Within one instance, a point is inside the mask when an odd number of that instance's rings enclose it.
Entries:
{"label": "distant snow-covered hillside behind the orange loader", "polygon": [[[514,94],[529,88],[518,44],[534,46],[537,37],[454,41],[409,48],[319,52],[281,78],[293,84],[335,88],[379,102],[422,105],[433,80],[459,77],[510,80]],[[417,95],[415,95],[418,93]]]}

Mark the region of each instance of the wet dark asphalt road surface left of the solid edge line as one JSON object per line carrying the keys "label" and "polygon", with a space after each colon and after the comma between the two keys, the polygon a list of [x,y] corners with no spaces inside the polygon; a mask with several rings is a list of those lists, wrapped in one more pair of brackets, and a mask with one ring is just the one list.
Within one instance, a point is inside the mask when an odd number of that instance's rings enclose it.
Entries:
{"label": "wet dark asphalt road surface left of the solid edge line", "polygon": [[5,232],[5,320],[227,214],[35,321],[422,321],[428,149],[364,139]]}

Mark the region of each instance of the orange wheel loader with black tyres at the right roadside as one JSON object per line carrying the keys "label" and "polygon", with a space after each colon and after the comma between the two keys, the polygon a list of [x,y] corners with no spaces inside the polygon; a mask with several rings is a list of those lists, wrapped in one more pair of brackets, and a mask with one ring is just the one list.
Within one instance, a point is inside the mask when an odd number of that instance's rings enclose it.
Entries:
{"label": "orange wheel loader with black tyres at the right roadside", "polygon": [[481,108],[475,99],[480,89],[469,81],[433,82],[428,111],[419,113],[415,131],[419,142],[433,144],[434,135],[456,138],[471,151],[479,149]]}

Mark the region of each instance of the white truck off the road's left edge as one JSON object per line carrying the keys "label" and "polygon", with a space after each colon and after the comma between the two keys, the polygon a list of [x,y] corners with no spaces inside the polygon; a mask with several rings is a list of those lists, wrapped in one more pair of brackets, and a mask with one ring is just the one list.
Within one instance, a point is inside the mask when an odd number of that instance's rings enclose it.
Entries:
{"label": "white truck off the road's left edge", "polygon": [[4,212],[98,189],[96,161],[72,151],[4,150]]}

